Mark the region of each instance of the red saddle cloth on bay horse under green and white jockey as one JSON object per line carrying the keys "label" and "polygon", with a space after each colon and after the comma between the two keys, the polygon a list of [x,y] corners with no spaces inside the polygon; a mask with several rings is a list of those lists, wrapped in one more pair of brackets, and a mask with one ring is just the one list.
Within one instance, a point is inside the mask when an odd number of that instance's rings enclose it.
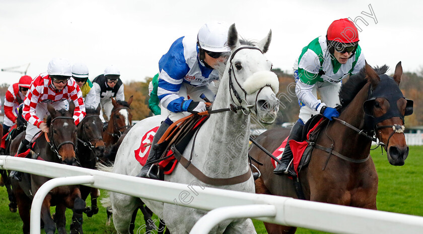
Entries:
{"label": "red saddle cloth on bay horse under green and white jockey", "polygon": [[[316,127],[320,124],[320,122],[322,122],[323,118],[321,118],[316,125],[314,125],[314,127],[312,129],[309,130],[309,132],[307,133],[307,140],[309,139],[310,133],[314,131],[314,129],[316,129]],[[274,152],[272,153],[274,157],[276,157],[277,159],[281,159],[282,158],[282,154],[284,153],[284,149],[285,146],[287,145],[287,141],[288,141],[288,137],[282,142],[282,144],[276,148],[276,150],[274,150]],[[301,158],[303,157],[304,151],[306,150],[307,146],[309,145],[309,143],[307,143],[307,141],[295,141],[295,140],[290,140],[290,147],[292,150],[292,154],[294,156],[294,160],[293,160],[293,164],[294,164],[294,170],[295,173],[298,176],[298,166],[300,165],[301,162]],[[276,168],[276,161],[274,161],[274,159],[271,159],[273,168]]]}

